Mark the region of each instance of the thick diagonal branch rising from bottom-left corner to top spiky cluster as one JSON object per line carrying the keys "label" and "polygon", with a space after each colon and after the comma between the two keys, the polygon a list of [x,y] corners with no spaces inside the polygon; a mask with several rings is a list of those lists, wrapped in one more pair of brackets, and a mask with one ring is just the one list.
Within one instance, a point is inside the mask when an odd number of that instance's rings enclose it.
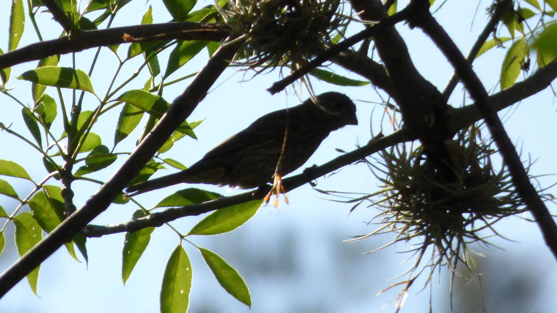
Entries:
{"label": "thick diagonal branch rising from bottom-left corner to top spiky cluster", "polygon": [[228,60],[234,56],[237,49],[237,44],[219,48],[191,84],[173,101],[157,126],[141,141],[113,177],[102,185],[83,207],[58,225],[0,276],[0,297],[4,296],[17,282],[45,261],[62,244],[70,241],[77,232],[110,206],[114,198],[131,182],[131,179],[149,162],[160,146],[167,141],[174,130],[192,113],[199,101],[205,97],[209,87],[226,69],[229,64]]}

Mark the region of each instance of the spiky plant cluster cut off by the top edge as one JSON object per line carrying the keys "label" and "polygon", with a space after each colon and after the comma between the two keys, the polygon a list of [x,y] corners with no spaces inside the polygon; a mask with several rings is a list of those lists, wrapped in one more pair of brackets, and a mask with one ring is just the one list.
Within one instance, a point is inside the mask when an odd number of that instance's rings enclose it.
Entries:
{"label": "spiky plant cluster cut off by the top edge", "polygon": [[[292,70],[325,50],[348,24],[343,0],[225,0],[219,13],[244,44],[236,60],[257,73]],[[336,38],[334,38],[336,36]]]}

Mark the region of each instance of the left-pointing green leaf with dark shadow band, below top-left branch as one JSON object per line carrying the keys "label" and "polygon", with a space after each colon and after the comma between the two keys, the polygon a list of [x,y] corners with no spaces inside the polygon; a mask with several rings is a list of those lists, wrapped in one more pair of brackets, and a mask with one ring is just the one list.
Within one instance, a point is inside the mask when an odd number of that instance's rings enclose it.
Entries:
{"label": "left-pointing green leaf with dark shadow band, below top-left branch", "polygon": [[17,77],[19,80],[27,80],[45,86],[54,86],[69,89],[79,89],[91,92],[93,85],[89,75],[79,69],[60,66],[43,66],[37,69],[24,72]]}

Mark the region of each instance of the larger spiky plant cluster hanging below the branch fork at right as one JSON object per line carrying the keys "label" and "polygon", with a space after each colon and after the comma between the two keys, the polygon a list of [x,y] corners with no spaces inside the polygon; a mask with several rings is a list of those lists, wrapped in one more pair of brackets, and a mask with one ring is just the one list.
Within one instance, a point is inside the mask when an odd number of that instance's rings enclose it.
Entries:
{"label": "larger spiky plant cluster hanging below the branch fork at right", "polygon": [[[380,227],[349,241],[394,232],[394,240],[379,249],[402,241],[409,243],[409,251],[418,256],[407,272],[410,278],[402,282],[405,287],[399,300],[427,268],[426,285],[438,266],[447,265],[452,275],[459,262],[471,269],[467,245],[473,242],[491,245],[486,241],[488,236],[480,231],[490,229],[493,233],[489,236],[498,235],[492,224],[526,211],[509,170],[504,165],[495,168],[492,164],[491,156],[496,151],[491,140],[482,138],[479,126],[461,131],[447,146],[452,175],[434,167],[421,146],[408,149],[407,144],[397,145],[383,150],[377,158],[364,160],[382,182],[382,190],[344,201],[355,203],[353,209],[365,203],[380,209],[371,222]],[[530,164],[526,165],[529,169]],[[544,200],[554,199],[544,191],[539,191]]]}

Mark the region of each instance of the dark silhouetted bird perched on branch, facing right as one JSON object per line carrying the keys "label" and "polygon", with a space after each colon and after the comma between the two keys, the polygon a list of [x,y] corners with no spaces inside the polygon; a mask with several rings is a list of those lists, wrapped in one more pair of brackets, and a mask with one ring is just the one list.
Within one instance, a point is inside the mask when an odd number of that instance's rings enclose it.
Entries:
{"label": "dark silhouetted bird perched on branch, facing right", "polygon": [[[331,131],[358,125],[356,106],[339,92],[261,116],[182,172],[132,185],[131,195],[179,183],[260,187],[301,167]],[[277,175],[275,175],[277,174]],[[279,188],[280,189],[280,188]],[[278,192],[277,192],[278,193]]]}

